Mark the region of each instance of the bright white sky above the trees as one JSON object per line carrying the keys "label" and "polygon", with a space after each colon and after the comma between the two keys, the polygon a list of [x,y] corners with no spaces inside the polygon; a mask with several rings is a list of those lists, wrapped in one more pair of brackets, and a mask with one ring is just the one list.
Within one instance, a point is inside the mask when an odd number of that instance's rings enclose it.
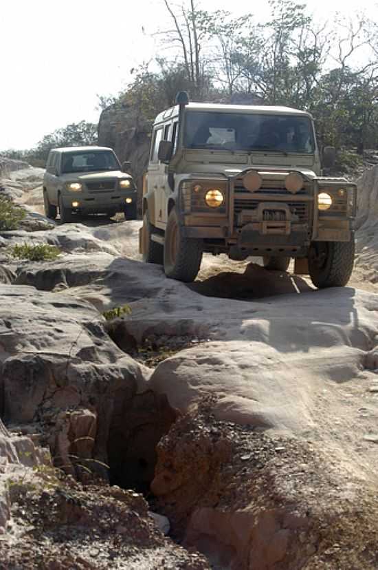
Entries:
{"label": "bright white sky above the trees", "polygon": [[[321,21],[356,9],[347,0],[303,3]],[[263,20],[267,0],[232,0],[231,8],[230,0],[201,0],[205,10],[235,16],[254,6]],[[376,0],[357,7],[377,20]],[[69,123],[97,123],[97,95],[124,89],[131,68],[159,53],[154,32],[168,24],[163,0],[1,0],[0,151],[33,147]]]}

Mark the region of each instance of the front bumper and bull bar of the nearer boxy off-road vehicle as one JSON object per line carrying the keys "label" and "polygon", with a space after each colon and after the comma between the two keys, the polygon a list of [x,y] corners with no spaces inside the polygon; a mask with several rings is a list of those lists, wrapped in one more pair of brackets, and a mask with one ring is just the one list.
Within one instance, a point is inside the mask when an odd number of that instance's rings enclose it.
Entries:
{"label": "front bumper and bull bar of the nearer boxy off-road vehicle", "polygon": [[[357,201],[353,184],[344,182],[353,193],[353,205],[345,207],[344,211],[340,211],[338,205],[335,213],[324,215],[318,210],[318,193],[324,191],[325,183],[331,191],[337,188],[337,185],[333,186],[335,179],[321,179],[320,185],[316,178],[307,178],[300,192],[289,193],[282,189],[278,171],[265,171],[268,180],[264,182],[269,182],[269,175],[276,176],[276,182],[273,180],[271,187],[265,184],[252,192],[241,187],[240,179],[245,172],[227,180],[226,211],[184,211],[182,231],[186,237],[221,240],[224,246],[232,244],[254,251],[292,249],[293,253],[303,251],[311,241],[351,240]],[[188,198],[181,203],[187,207]]]}

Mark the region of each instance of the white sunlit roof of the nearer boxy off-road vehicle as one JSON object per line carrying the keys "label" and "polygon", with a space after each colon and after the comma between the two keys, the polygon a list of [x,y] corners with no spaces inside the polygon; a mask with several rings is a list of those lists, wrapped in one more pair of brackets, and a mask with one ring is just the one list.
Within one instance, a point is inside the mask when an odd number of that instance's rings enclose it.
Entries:
{"label": "white sunlit roof of the nearer boxy off-road vehicle", "polygon": [[[300,111],[300,109],[292,109],[291,107],[283,107],[278,105],[226,105],[225,103],[188,103],[186,105],[188,110],[208,111],[208,112],[228,112],[228,113],[250,113],[250,114],[265,114],[265,115],[302,115],[311,117],[307,111]],[[163,123],[170,118],[179,114],[179,105],[170,107],[162,113],[159,113],[155,118],[156,123]]]}

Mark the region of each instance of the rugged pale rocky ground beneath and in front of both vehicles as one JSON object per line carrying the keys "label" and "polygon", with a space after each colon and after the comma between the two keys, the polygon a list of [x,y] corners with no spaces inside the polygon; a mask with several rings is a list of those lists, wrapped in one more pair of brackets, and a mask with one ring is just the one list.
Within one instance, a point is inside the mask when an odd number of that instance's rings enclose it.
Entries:
{"label": "rugged pale rocky ground beneath and in front of both vehicles", "polygon": [[141,222],[47,222],[41,172],[8,173],[28,215],[0,235],[1,417],[30,447],[3,462],[4,569],[378,567],[377,172],[329,291],[225,256],[168,280]]}

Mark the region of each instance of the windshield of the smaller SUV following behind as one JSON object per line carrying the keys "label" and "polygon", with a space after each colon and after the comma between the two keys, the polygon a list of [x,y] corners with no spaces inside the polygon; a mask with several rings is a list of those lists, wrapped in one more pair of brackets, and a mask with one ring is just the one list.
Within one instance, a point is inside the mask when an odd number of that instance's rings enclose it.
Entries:
{"label": "windshield of the smaller SUV following behind", "polygon": [[111,151],[67,152],[62,158],[62,172],[93,172],[119,170],[120,165]]}

